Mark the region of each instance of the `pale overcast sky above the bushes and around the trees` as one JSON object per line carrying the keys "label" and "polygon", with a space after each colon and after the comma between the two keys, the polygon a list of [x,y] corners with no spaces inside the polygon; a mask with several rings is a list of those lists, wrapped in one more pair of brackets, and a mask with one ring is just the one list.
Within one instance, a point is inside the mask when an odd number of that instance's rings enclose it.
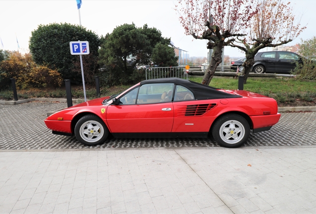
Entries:
{"label": "pale overcast sky above the bushes and around the trees", "polygon": [[[297,16],[303,14],[301,24],[307,29],[290,45],[316,36],[316,0],[289,0]],[[176,47],[190,56],[207,56],[206,41],[186,36],[174,10],[173,0],[82,0],[81,24],[97,35],[111,33],[116,26],[135,23],[148,24],[171,37]],[[0,0],[0,38],[4,50],[28,53],[31,32],[40,24],[79,24],[76,0]],[[2,45],[0,43],[0,49]],[[48,50],[49,51],[49,50]],[[243,56],[237,49],[226,48],[225,55]]]}

